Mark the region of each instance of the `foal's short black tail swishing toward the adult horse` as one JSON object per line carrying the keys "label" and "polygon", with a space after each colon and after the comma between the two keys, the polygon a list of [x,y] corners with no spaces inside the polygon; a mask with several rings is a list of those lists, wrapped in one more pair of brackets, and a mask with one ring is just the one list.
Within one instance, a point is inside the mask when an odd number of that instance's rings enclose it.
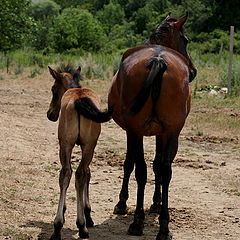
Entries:
{"label": "foal's short black tail swishing toward the adult horse", "polygon": [[83,115],[94,122],[103,123],[112,118],[113,109],[109,108],[108,110],[102,112],[88,97],[75,100],[74,105],[78,114]]}

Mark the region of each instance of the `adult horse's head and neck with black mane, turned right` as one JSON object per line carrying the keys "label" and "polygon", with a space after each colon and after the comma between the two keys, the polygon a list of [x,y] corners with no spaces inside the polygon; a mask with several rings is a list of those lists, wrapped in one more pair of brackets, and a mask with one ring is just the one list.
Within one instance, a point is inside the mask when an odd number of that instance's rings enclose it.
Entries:
{"label": "adult horse's head and neck with black mane, turned right", "polygon": [[188,13],[179,19],[171,17],[169,13],[151,35],[148,43],[166,46],[181,53],[189,63],[190,81],[192,81],[197,75],[197,69],[187,51],[188,38],[183,31],[187,18]]}

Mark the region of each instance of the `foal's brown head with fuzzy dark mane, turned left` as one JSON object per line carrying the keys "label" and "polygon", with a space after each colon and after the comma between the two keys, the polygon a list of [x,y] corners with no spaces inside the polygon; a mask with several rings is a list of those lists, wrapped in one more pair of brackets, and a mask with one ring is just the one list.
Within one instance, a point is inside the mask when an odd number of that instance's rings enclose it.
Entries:
{"label": "foal's brown head with fuzzy dark mane, turned left", "polygon": [[71,67],[67,66],[64,69],[58,69],[57,71],[50,67],[48,68],[55,81],[52,86],[52,100],[47,112],[47,117],[49,120],[55,122],[58,120],[63,94],[69,88],[81,87],[81,68],[78,67],[77,70],[73,70]]}

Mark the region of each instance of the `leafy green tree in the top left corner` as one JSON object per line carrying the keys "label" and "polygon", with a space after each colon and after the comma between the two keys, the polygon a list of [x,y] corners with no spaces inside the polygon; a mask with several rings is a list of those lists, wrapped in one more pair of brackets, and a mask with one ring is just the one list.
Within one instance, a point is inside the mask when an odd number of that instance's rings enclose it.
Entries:
{"label": "leafy green tree in the top left corner", "polygon": [[28,16],[30,0],[0,0],[0,50],[20,47],[30,36],[34,21]]}

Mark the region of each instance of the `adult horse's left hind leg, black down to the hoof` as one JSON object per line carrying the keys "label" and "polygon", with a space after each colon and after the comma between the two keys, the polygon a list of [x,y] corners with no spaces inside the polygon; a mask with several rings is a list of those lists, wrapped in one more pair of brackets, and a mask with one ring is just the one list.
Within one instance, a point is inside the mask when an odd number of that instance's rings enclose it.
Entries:
{"label": "adult horse's left hind leg, black down to the hoof", "polygon": [[129,226],[128,234],[140,236],[143,234],[144,228],[144,190],[147,181],[147,166],[144,161],[143,152],[143,137],[134,133],[128,134],[128,149],[131,149],[130,153],[134,156],[134,162],[136,164],[135,177],[137,180],[137,205],[134,214],[134,221]]}

